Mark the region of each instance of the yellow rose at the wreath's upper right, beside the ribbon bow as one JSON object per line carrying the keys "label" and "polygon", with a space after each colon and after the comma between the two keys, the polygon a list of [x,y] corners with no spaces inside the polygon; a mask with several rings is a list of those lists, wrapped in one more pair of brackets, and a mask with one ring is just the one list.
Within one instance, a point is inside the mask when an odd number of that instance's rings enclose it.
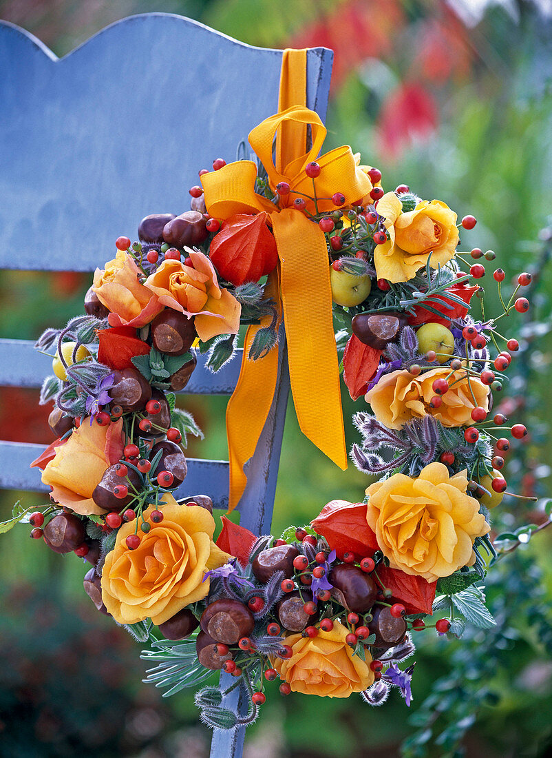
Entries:
{"label": "yellow rose at the wreath's upper right, beside the ribbon bow", "polygon": [[376,211],[385,218],[390,240],[377,245],[374,265],[378,279],[404,282],[429,265],[437,268],[454,257],[459,236],[457,215],[440,200],[423,200],[413,211],[402,212],[403,204],[395,193],[386,193]]}

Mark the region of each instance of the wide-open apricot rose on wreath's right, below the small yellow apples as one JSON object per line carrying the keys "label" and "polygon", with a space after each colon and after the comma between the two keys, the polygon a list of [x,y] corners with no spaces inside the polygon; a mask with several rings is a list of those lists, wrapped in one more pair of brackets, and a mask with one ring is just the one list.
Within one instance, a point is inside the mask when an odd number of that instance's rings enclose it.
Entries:
{"label": "wide-open apricot rose on wreath's right, below the small yellow apples", "polygon": [[[372,406],[378,421],[389,429],[400,429],[407,421],[423,418],[428,413],[445,427],[469,426],[474,408],[480,406],[488,411],[490,390],[477,377],[470,377],[468,384],[466,372],[460,369],[448,378],[450,388],[442,396],[441,405],[432,408],[433,382],[448,377],[450,373],[449,368],[432,368],[413,377],[404,369],[391,371],[382,376],[364,399]],[[473,402],[472,393],[476,402]]]}

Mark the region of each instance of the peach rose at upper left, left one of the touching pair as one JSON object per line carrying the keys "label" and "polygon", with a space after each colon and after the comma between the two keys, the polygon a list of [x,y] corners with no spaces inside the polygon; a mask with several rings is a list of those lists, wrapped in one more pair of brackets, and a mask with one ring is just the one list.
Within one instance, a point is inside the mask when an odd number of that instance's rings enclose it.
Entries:
{"label": "peach rose at upper left, left one of the touching pair", "polygon": [[133,258],[122,250],[103,270],[96,268],[93,290],[111,311],[108,321],[112,327],[140,329],[163,310],[163,305],[139,282],[141,276]]}

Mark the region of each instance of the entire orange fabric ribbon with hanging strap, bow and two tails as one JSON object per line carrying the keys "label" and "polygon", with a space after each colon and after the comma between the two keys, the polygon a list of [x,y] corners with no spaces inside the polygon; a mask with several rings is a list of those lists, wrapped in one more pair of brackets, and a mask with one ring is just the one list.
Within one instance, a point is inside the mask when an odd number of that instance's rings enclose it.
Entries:
{"label": "entire orange fabric ribbon with hanging strap, bow and two tails", "polygon": [[[320,165],[320,175],[314,180],[320,199],[315,203],[305,198],[306,210],[310,213],[334,211],[331,198],[337,192],[345,196],[345,205],[360,203],[372,185],[366,174],[357,168],[348,146],[317,158],[326,128],[317,113],[304,105],[296,105],[298,100],[305,100],[306,62],[306,51],[285,51],[280,111],[249,134],[249,143],[264,165],[272,189],[276,191],[279,182],[287,182],[292,190],[289,195],[280,197],[280,207],[255,193],[257,165],[254,161],[226,164],[220,171],[204,174],[201,183],[207,211],[214,218],[226,220],[237,213],[260,211],[270,214],[279,271],[270,274],[265,294],[274,299],[279,314],[283,312],[299,426],[326,456],[345,469],[347,450],[326,238],[318,224],[293,207],[293,201],[303,195],[313,197],[313,180],[304,171],[310,161],[316,160]],[[311,147],[306,149],[309,128]],[[275,138],[276,164],[273,161]],[[255,451],[276,389],[278,351],[273,349],[257,361],[248,359],[257,330],[268,323],[270,317],[248,329],[239,381],[226,409],[229,511],[235,508],[245,489],[247,477],[243,467]]]}

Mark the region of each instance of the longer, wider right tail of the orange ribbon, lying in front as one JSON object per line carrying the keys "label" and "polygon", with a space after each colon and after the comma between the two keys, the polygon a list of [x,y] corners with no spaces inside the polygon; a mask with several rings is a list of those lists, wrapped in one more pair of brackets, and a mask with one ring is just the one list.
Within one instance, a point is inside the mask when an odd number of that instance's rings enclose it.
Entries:
{"label": "longer, wider right tail of the orange ribbon, lying in front", "polygon": [[303,434],[348,465],[329,262],[322,230],[292,208],[273,215],[293,401]]}

